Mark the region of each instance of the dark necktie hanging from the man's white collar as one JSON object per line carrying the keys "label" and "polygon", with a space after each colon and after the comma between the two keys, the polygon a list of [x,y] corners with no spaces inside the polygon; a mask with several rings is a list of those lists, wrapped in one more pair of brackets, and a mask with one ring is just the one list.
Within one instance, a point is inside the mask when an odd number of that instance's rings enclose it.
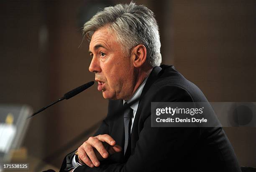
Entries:
{"label": "dark necktie hanging from the man's white collar", "polygon": [[[125,102],[124,106],[127,105],[127,102]],[[124,155],[126,152],[126,149],[128,147],[129,139],[130,139],[130,134],[131,134],[131,123],[132,120],[131,118],[133,117],[133,110],[131,107],[127,107],[124,111],[123,115],[123,122],[124,122],[124,129],[125,129],[125,145],[124,145]]]}

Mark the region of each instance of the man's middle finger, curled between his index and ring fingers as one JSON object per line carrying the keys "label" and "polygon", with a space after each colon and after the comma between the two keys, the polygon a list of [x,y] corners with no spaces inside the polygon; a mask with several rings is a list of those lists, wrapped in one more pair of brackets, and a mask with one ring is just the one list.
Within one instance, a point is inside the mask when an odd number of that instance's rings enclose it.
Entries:
{"label": "man's middle finger, curled between his index and ring fingers", "polygon": [[97,137],[90,138],[90,140],[88,139],[88,143],[90,145],[92,145],[93,147],[95,147],[97,152],[100,153],[100,156],[96,155],[98,160],[100,160],[102,157],[103,158],[107,158],[108,157],[108,150],[105,148],[105,146],[102,144],[102,142],[97,139]]}

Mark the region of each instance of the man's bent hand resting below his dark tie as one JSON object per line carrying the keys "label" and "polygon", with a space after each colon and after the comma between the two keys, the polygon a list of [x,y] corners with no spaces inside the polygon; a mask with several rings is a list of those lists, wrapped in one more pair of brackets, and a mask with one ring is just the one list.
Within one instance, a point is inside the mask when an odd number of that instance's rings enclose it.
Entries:
{"label": "man's bent hand resting below his dark tie", "polygon": [[115,140],[110,135],[97,135],[89,137],[78,149],[79,161],[84,162],[89,167],[98,167],[100,161],[108,158],[116,152],[121,152],[122,147],[115,145]]}

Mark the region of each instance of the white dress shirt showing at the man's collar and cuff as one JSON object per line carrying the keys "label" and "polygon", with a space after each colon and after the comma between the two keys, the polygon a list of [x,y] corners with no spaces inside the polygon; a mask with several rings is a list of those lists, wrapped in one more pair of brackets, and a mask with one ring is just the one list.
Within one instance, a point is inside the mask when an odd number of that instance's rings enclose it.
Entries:
{"label": "white dress shirt showing at the man's collar and cuff", "polygon": [[[152,71],[152,69],[151,69],[151,71]],[[150,71],[150,73],[151,73],[151,71]],[[148,74],[148,76],[150,75],[150,73]],[[132,102],[133,100],[136,100],[136,99],[138,99],[139,97],[141,97],[141,93],[142,93],[142,90],[143,90],[143,88],[144,88],[144,86],[145,86],[145,84],[146,84],[146,81],[148,80],[148,76],[145,78],[145,80],[142,82],[142,84],[138,87],[138,89],[137,89],[136,92],[134,93],[133,97],[132,97],[130,100],[128,100],[128,101],[123,100],[123,104],[124,104],[125,102],[130,103],[130,102]],[[139,102],[137,101],[137,102],[135,102],[133,105],[130,106],[131,109],[133,110],[131,131],[132,131],[132,128],[133,128],[133,121],[134,121],[134,119],[135,119],[135,115],[136,115],[136,112],[137,112],[137,109],[138,109],[138,103],[139,103]],[[73,157],[73,159],[72,159],[72,168],[74,168],[74,167],[76,168],[76,167],[78,167],[78,166],[80,166],[80,165],[82,165],[82,164],[76,162],[75,155],[74,155],[74,157]],[[70,168],[70,169],[72,169],[72,168]]]}

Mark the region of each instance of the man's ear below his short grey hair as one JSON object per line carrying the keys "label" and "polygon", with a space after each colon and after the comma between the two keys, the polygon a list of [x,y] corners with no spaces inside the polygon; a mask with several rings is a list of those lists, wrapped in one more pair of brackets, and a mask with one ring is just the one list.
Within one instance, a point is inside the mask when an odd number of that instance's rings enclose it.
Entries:
{"label": "man's ear below his short grey hair", "polygon": [[133,47],[132,50],[132,63],[134,67],[141,67],[145,61],[146,61],[146,57],[147,57],[147,50],[146,47],[142,44],[137,45],[136,47]]}

